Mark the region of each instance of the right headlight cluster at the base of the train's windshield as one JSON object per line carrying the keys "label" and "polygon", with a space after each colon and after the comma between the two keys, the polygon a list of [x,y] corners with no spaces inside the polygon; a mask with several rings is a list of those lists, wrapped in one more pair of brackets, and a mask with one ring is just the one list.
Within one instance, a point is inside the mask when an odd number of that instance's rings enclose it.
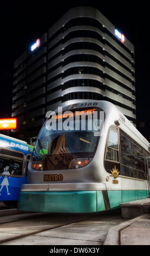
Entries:
{"label": "right headlight cluster at the base of the train's windshield", "polygon": [[79,169],[84,166],[87,166],[92,161],[92,159],[92,157],[75,158],[71,160],[69,164],[69,169]]}

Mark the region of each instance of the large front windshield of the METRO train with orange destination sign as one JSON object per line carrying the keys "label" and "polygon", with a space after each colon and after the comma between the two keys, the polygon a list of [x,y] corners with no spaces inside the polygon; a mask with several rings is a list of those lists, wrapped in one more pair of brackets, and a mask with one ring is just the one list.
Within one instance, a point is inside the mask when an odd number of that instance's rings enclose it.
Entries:
{"label": "large front windshield of the METRO train with orange destination sign", "polygon": [[92,161],[103,129],[103,115],[96,110],[52,114],[37,138],[32,153],[32,168],[73,169]]}

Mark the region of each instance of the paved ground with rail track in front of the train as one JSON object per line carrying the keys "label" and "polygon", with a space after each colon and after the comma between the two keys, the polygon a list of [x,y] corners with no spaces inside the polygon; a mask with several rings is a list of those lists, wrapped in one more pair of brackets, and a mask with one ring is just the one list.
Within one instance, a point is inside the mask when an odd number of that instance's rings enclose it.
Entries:
{"label": "paved ground with rail track in front of the train", "polygon": [[0,245],[102,245],[120,211],[99,214],[28,213],[0,217]]}

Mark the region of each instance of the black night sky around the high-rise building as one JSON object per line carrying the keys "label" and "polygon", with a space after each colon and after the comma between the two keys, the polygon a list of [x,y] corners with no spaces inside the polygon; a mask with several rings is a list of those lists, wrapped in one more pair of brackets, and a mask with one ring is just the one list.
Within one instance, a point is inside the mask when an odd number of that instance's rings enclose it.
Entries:
{"label": "black night sky around the high-rise building", "polygon": [[[2,1],[1,1],[2,2]],[[135,47],[136,120],[149,122],[150,48],[148,1],[0,2],[0,118],[11,117],[14,61],[67,10],[79,5],[99,9]],[[148,127],[148,126],[147,126]],[[140,130],[142,132],[142,130]],[[143,130],[144,131],[144,130]]]}

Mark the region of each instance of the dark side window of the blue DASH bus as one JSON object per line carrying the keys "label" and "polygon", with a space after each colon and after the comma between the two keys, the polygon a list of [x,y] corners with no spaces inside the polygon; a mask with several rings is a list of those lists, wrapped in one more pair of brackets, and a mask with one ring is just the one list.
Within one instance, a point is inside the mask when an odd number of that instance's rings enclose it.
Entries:
{"label": "dark side window of the blue DASH bus", "polygon": [[[17,156],[17,157],[16,157]],[[0,151],[0,175],[23,176],[24,154],[15,150],[1,149]]]}

